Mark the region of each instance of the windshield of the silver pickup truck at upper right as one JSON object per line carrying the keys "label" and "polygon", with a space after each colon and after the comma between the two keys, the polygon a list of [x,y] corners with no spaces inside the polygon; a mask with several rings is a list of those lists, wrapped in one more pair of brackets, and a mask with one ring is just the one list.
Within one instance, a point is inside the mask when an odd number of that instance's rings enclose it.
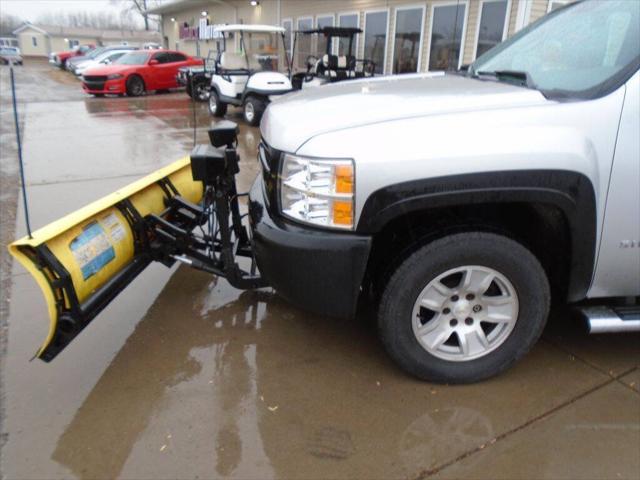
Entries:
{"label": "windshield of the silver pickup truck at upper right", "polygon": [[469,74],[522,72],[547,97],[595,98],[638,69],[639,30],[639,1],[576,3],[489,50]]}

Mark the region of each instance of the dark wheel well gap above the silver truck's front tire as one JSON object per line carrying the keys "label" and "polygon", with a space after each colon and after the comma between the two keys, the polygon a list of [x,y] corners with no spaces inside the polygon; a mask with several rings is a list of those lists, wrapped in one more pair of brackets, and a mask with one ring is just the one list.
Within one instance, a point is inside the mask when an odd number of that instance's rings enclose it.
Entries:
{"label": "dark wheel well gap above the silver truck's front tire", "polygon": [[563,212],[544,203],[442,207],[396,217],[374,235],[365,291],[379,296],[389,276],[417,248],[447,235],[469,231],[504,235],[524,245],[544,268],[553,297],[566,298],[571,233]]}

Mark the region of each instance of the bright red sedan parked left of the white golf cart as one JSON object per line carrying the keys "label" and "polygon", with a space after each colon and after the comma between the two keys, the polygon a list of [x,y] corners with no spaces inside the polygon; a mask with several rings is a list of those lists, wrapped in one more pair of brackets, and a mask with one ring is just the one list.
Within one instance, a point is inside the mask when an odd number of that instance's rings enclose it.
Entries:
{"label": "bright red sedan parked left of the white golf cart", "polygon": [[202,65],[202,60],[171,50],[136,50],[110,65],[88,69],[82,88],[96,97],[125,93],[136,97],[150,90],[179,87],[178,69],[191,65]]}

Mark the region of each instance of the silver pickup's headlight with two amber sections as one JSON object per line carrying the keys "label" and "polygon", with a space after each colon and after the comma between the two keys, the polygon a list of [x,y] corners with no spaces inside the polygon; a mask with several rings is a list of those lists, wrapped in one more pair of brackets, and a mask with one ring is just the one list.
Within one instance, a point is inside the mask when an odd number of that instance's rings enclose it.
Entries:
{"label": "silver pickup's headlight with two amber sections", "polygon": [[282,213],[322,227],[353,229],[353,160],[329,160],[285,154],[280,171]]}

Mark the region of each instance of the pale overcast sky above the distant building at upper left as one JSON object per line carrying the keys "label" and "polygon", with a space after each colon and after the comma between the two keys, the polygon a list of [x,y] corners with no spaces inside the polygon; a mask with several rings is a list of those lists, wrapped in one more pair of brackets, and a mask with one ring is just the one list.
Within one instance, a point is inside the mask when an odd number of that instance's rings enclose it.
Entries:
{"label": "pale overcast sky above the distant building at upper left", "polygon": [[111,11],[119,13],[121,5],[114,5],[109,0],[0,0],[0,15],[16,15],[24,20],[34,22],[39,15],[46,12],[62,11]]}

